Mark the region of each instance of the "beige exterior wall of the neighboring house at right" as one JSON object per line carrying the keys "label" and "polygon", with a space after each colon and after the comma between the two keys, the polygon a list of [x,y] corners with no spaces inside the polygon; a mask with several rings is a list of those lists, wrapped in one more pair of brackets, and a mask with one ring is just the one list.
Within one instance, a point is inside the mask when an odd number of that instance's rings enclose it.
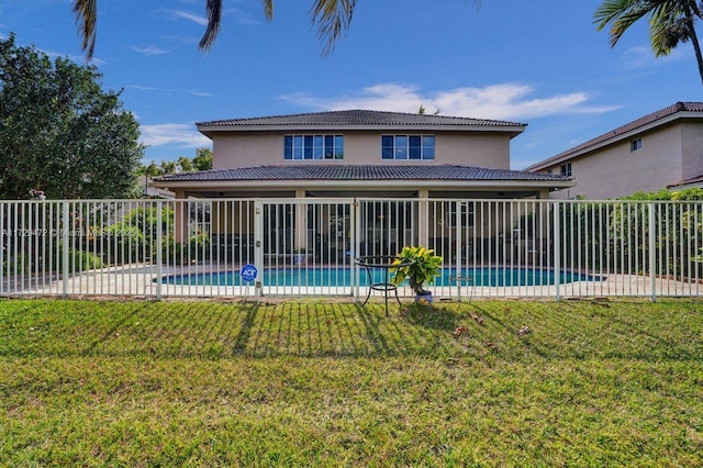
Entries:
{"label": "beige exterior wall of the neighboring house at right", "polygon": [[[641,148],[632,152],[631,142],[636,138],[641,138]],[[682,179],[681,138],[681,125],[669,125],[556,164],[551,166],[553,174],[559,174],[561,165],[571,163],[571,176],[577,186],[551,192],[550,198],[605,200],[636,191],[666,189]],[[696,151],[700,152],[700,147]],[[700,160],[698,164],[703,166]],[[690,163],[689,166],[694,165]]]}

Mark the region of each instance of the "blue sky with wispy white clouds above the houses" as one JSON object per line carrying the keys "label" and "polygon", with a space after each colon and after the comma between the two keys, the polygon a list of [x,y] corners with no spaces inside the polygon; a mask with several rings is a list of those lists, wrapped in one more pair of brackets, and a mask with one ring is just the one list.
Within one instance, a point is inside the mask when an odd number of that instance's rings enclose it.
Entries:
{"label": "blue sky with wispy white clouds above the houses", "polygon": [[[321,56],[312,0],[224,0],[220,35],[198,51],[204,0],[100,1],[93,64],[123,89],[145,161],[211,146],[196,122],[376,109],[527,123],[514,169],[677,101],[701,101],[690,44],[655,58],[647,24],[612,49],[600,0],[359,0],[348,34]],[[69,0],[0,0],[0,36],[83,64]],[[253,161],[256,164],[256,161]]]}

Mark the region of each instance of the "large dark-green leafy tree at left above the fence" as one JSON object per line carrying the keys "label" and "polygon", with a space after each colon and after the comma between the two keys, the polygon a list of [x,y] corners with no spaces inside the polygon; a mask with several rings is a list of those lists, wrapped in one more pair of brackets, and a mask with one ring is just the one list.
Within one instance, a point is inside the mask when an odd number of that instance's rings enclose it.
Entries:
{"label": "large dark-green leafy tree at left above the fence", "polygon": [[142,158],[138,124],[94,66],[0,41],[0,197],[126,197]]}

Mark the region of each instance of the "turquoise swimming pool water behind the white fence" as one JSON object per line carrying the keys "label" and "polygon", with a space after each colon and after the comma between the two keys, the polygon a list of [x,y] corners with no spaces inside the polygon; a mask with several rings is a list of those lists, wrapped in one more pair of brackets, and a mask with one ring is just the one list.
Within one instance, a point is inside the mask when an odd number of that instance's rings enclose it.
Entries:
{"label": "turquoise swimming pool water behind the white fence", "polygon": [[[263,286],[300,286],[300,287],[348,287],[352,285],[352,268],[266,268]],[[392,275],[392,274],[391,274]],[[455,268],[444,268],[442,275],[436,278],[434,286],[456,286],[451,278],[456,275]],[[503,268],[480,267],[461,270],[461,277],[471,277],[472,281],[464,281],[462,285],[510,287],[510,286],[548,286],[554,285],[557,275],[553,269],[546,268]],[[360,286],[368,286],[367,275],[361,271]],[[593,275],[561,271],[558,276],[559,283],[574,281],[602,281],[603,277]],[[373,272],[373,282],[383,280],[382,271]],[[239,270],[200,272],[189,275],[170,275],[163,278],[163,282],[181,286],[246,286],[242,280]]]}

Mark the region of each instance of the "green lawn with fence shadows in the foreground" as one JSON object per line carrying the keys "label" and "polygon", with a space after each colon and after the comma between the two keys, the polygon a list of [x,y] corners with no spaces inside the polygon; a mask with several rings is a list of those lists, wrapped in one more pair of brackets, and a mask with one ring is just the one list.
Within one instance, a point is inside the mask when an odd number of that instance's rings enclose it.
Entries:
{"label": "green lawn with fence shadows in the foreground", "polygon": [[2,300],[0,466],[701,466],[702,309]]}

